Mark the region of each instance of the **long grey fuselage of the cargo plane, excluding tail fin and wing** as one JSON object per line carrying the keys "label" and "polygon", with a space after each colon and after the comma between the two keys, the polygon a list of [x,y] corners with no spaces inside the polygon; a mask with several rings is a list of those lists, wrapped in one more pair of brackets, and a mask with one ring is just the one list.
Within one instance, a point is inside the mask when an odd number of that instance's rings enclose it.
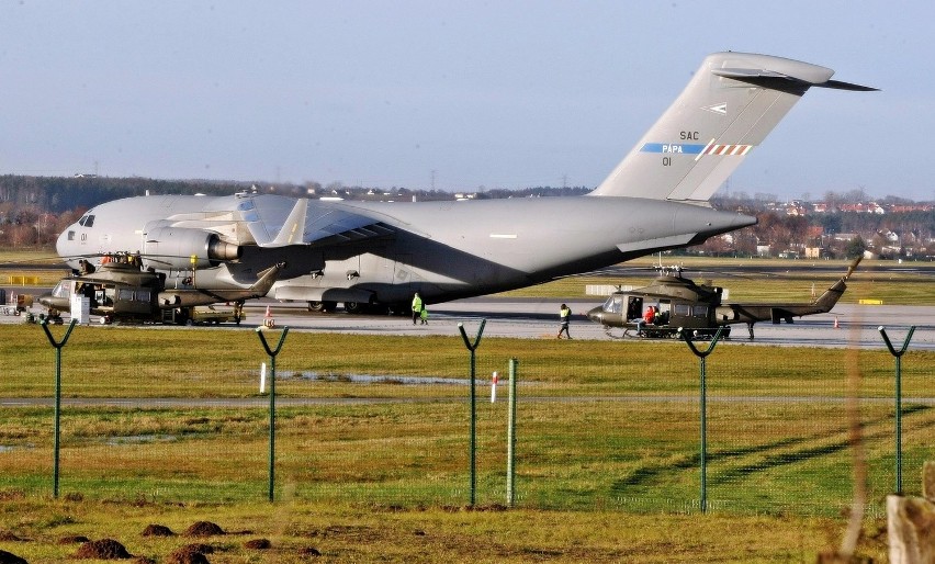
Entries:
{"label": "long grey fuselage of the cargo plane, excluding tail fin and wing", "polygon": [[[633,257],[697,244],[755,219],[709,207],[633,198],[542,198],[469,202],[309,201],[387,226],[388,234],[328,245],[262,247],[243,236],[245,198],[140,196],[99,205],[63,233],[63,257],[144,251],[167,273],[167,287],[191,275],[182,257],[145,250],[147,225],[173,223],[218,233],[243,250],[236,260],[199,267],[199,282],[243,280],[285,262],[269,295],[283,300],[394,304],[420,292],[429,303],[483,295],[586,272]],[[292,200],[292,199],[288,199]],[[278,202],[278,201],[277,201]],[[83,225],[82,225],[83,224]],[[90,224],[90,225],[88,225]],[[281,226],[277,226],[281,227]],[[238,235],[239,234],[239,235]],[[164,260],[168,259],[168,260]],[[166,267],[174,260],[176,266]]]}

